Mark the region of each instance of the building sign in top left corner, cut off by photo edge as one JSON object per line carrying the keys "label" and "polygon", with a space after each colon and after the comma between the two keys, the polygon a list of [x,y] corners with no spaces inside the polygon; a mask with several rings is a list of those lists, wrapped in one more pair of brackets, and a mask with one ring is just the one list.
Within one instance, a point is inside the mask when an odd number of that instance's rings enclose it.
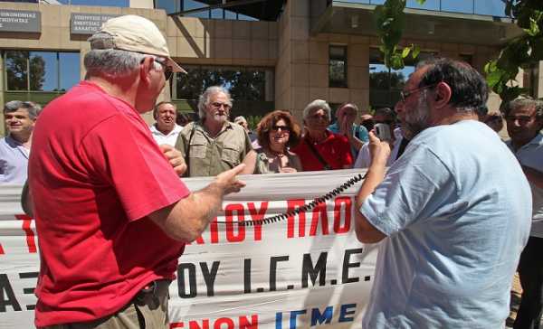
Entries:
{"label": "building sign in top left corner, cut off by photo edge", "polygon": [[42,32],[42,13],[0,9],[0,32]]}

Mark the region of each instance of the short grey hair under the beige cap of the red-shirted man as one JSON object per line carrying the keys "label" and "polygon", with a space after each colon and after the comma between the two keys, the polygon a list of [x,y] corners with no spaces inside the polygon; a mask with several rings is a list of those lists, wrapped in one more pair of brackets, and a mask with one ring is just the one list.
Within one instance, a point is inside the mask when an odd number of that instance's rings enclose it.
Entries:
{"label": "short grey hair under the beige cap of the red-shirted man", "polygon": [[[89,76],[110,75],[126,76],[132,71],[138,69],[139,64],[145,57],[153,56],[139,52],[127,52],[119,49],[92,49],[94,43],[112,42],[109,33],[94,33],[90,38],[90,52],[87,52],[84,59],[85,69]],[[159,69],[160,64],[155,62],[155,69]]]}

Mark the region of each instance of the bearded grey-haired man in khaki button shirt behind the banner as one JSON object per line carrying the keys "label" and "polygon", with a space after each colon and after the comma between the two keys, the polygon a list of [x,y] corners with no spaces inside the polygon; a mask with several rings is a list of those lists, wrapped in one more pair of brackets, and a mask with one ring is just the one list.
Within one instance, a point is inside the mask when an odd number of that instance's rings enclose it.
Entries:
{"label": "bearded grey-haired man in khaki button shirt behind the banner", "polygon": [[[214,176],[255,156],[243,127],[228,121],[232,99],[222,87],[209,87],[200,96],[200,120],[192,122],[177,137],[176,149],[188,166],[186,176]],[[242,174],[252,174],[248,166]]]}

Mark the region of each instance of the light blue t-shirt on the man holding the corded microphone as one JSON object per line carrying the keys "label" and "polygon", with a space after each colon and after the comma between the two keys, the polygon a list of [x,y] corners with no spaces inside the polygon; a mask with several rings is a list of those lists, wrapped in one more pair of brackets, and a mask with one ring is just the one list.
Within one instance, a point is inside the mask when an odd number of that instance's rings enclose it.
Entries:
{"label": "light blue t-shirt on the man holding the corded microphone", "polygon": [[364,328],[503,327],[531,194],[491,128],[425,129],[360,211],[387,235]]}

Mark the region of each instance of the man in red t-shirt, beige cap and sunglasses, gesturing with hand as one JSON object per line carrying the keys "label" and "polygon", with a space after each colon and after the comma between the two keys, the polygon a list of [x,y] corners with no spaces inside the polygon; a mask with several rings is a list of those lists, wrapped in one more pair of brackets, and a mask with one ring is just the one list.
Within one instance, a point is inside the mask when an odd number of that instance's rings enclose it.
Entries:
{"label": "man in red t-shirt, beige cap and sunglasses, gesturing with hand", "polygon": [[188,191],[139,116],[183,71],[157,26],[120,16],[89,41],[87,79],[44,108],[34,129],[35,324],[167,328],[177,258],[224,195],[243,187],[243,164]]}

